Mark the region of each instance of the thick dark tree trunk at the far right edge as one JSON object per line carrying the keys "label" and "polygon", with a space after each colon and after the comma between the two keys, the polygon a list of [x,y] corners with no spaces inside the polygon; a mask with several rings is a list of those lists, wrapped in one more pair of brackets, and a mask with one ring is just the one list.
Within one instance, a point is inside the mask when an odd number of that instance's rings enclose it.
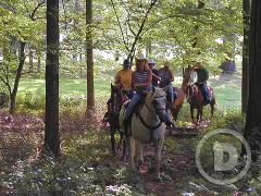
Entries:
{"label": "thick dark tree trunk at the far right edge", "polygon": [[[249,37],[249,101],[244,136],[249,143],[252,159],[261,149],[261,1],[252,0]],[[243,148],[243,152],[245,152]]]}

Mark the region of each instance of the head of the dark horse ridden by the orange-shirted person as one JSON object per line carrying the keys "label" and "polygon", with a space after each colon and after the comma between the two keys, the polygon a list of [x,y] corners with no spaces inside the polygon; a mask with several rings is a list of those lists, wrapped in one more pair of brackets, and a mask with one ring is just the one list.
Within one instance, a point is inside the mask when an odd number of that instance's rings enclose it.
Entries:
{"label": "head of the dark horse ridden by the orange-shirted person", "polygon": [[122,108],[122,90],[119,86],[111,84],[111,112],[119,114]]}

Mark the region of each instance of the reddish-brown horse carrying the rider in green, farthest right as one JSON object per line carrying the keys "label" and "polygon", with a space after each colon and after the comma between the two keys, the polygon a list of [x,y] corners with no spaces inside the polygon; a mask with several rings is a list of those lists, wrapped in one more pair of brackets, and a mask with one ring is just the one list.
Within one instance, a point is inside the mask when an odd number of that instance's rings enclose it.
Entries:
{"label": "reddish-brown horse carrying the rider in green, farthest right", "polygon": [[[192,72],[192,68],[188,66],[187,69],[185,69],[185,72],[183,74],[183,83],[184,83],[184,88],[186,88],[185,91],[186,91],[187,100],[190,105],[190,115],[191,115],[192,123],[195,123],[196,125],[199,125],[199,123],[202,120],[204,106],[210,105],[211,114],[212,115],[214,114],[215,97],[214,97],[213,89],[211,87],[209,87],[209,91],[211,95],[211,101],[210,101],[210,103],[208,103],[204,100],[204,96],[203,96],[200,87],[197,84],[189,83],[191,72]],[[197,122],[195,122],[194,109],[198,110]]]}

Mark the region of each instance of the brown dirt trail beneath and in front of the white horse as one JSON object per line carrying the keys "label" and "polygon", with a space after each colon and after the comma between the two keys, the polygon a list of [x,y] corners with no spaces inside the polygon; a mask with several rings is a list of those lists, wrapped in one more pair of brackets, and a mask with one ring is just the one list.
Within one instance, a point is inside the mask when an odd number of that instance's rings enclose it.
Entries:
{"label": "brown dirt trail beneath and in front of the white horse", "polygon": [[139,181],[144,183],[147,194],[154,195],[181,195],[183,181],[198,174],[194,150],[189,147],[189,139],[198,135],[199,131],[194,128],[177,128],[175,134],[167,136],[177,149],[170,151],[164,146],[161,161],[161,179],[154,177],[154,147],[148,145],[144,150],[145,163],[139,171]]}

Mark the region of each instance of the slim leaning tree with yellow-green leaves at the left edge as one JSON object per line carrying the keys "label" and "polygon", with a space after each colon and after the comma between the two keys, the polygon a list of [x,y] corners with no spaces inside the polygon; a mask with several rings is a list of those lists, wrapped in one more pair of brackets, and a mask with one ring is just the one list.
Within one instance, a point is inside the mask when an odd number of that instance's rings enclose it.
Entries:
{"label": "slim leaning tree with yellow-green leaves at the left edge", "polygon": [[[0,81],[5,85],[10,95],[11,114],[15,111],[18,84],[25,64],[25,48],[27,44],[39,42],[38,33],[44,26],[40,22],[40,19],[42,19],[40,13],[46,1],[25,0],[23,4],[26,4],[26,7],[21,7],[20,3],[22,2],[8,0],[1,0],[0,3],[0,48],[3,50]],[[10,40],[13,42],[11,48],[8,44]],[[16,46],[18,46],[18,57],[14,52]]]}

